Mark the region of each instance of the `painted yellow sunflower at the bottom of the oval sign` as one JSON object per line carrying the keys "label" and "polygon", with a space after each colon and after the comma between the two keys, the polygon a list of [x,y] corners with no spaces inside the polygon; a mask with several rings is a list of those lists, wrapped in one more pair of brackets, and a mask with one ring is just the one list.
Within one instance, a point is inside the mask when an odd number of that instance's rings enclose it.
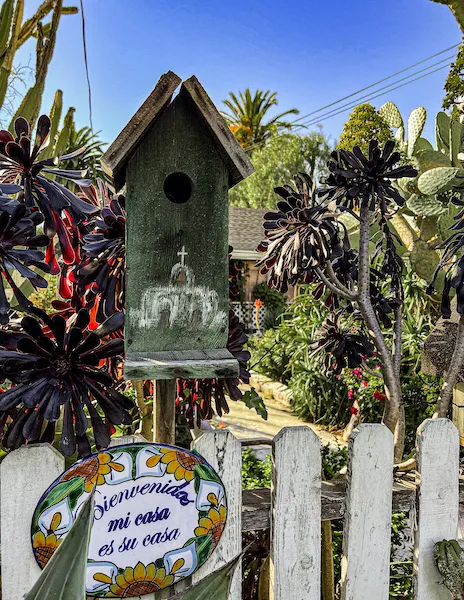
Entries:
{"label": "painted yellow sunflower at the bottom of the oval sign", "polygon": [[93,578],[109,584],[110,593],[105,596],[109,598],[134,598],[151,594],[169,587],[174,581],[174,575],[167,575],[166,569],[157,569],[155,563],[145,567],[141,562],[134,568],[126,567],[123,573],[116,575],[115,583],[103,573],[96,573]]}

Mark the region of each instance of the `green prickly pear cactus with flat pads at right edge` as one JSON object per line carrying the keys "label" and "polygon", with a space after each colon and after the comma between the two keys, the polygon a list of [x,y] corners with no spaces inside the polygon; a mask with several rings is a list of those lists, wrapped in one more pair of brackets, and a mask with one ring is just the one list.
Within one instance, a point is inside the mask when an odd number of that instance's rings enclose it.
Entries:
{"label": "green prickly pear cactus with flat pads at right edge", "polygon": [[[450,200],[464,194],[464,155],[461,154],[464,127],[457,116],[439,112],[434,148],[421,137],[427,117],[425,108],[412,111],[407,128],[393,102],[384,104],[379,112],[390,127],[397,130],[395,137],[399,149],[418,170],[415,179],[398,182],[406,206],[394,217],[393,225],[410,251],[417,274],[428,280],[439,260],[436,246],[455,215],[456,209]],[[407,238],[403,235],[405,231]]]}

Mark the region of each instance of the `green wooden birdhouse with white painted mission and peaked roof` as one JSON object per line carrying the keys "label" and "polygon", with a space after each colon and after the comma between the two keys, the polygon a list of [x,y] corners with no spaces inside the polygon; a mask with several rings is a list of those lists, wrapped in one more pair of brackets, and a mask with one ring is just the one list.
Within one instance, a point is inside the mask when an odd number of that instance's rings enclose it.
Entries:
{"label": "green wooden birdhouse with white painted mission and peaked roof", "polygon": [[228,190],[253,167],[196,77],[163,75],[102,164],[126,190],[126,378],[236,375]]}

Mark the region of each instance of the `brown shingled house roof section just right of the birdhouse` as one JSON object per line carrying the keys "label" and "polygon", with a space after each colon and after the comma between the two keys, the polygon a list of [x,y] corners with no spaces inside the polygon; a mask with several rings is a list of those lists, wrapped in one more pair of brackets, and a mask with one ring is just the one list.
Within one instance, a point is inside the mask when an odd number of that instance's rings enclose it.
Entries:
{"label": "brown shingled house roof section just right of the birdhouse", "polygon": [[256,260],[261,256],[256,248],[264,240],[264,215],[267,208],[229,208],[229,244],[232,258]]}

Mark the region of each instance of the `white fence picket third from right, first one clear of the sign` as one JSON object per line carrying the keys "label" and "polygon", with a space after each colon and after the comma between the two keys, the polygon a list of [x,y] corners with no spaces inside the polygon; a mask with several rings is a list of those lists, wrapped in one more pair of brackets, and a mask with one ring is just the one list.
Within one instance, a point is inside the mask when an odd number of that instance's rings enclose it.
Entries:
{"label": "white fence picket third from right, first one clear of the sign", "polygon": [[274,438],[271,586],[274,600],[319,600],[321,443],[309,427]]}

